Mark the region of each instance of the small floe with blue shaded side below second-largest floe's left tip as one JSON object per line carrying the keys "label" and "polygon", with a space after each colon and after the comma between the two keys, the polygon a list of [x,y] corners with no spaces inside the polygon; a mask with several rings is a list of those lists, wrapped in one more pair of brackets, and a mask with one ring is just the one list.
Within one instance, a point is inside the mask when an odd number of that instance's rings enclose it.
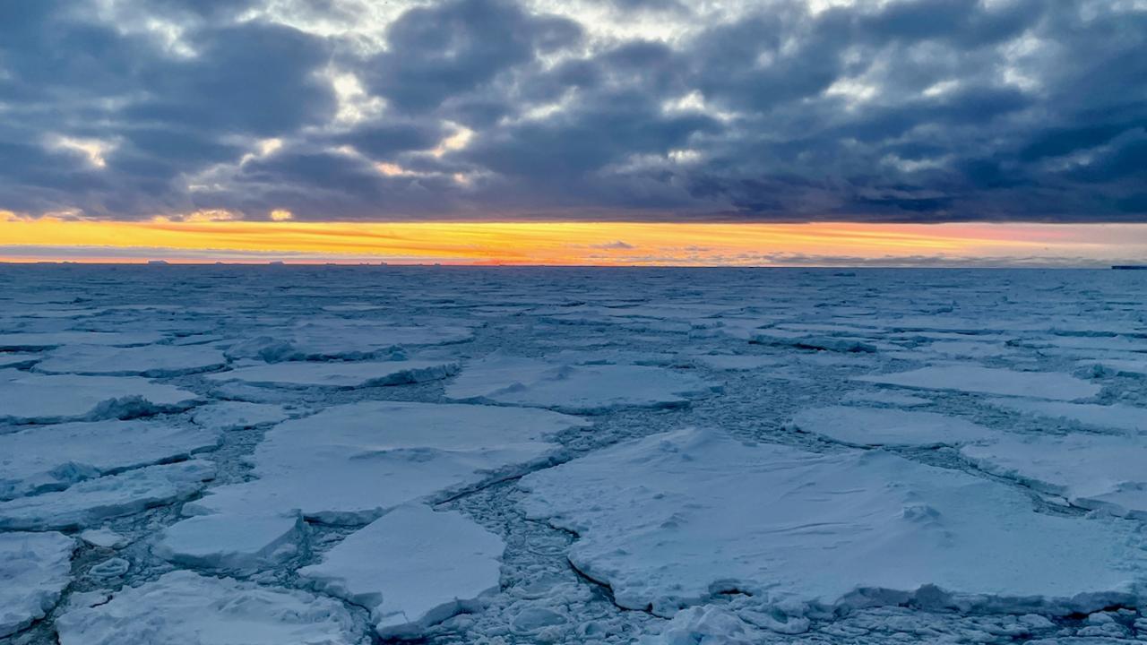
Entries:
{"label": "small floe with blue shaded side below second-largest floe's left tip", "polygon": [[153,551],[179,565],[249,569],[295,555],[305,531],[298,514],[196,515],[164,529]]}

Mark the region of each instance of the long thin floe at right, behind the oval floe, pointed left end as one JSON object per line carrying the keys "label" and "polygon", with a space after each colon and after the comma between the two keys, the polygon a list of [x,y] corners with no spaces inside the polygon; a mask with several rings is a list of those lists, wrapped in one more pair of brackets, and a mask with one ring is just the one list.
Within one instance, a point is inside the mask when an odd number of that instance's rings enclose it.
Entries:
{"label": "long thin floe at right, behind the oval floe, pointed left end", "polygon": [[957,390],[1001,396],[1075,401],[1099,394],[1098,384],[1058,372],[1016,372],[978,365],[929,365],[911,372],[855,376],[857,381],[905,388]]}

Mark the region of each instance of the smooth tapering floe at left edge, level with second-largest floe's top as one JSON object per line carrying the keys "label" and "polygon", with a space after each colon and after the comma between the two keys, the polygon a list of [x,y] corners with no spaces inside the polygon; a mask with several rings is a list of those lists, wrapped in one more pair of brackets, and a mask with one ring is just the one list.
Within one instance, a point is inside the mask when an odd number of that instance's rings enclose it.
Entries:
{"label": "smooth tapering floe at left edge, level with second-largest floe's top", "polygon": [[0,500],[186,458],[218,444],[218,432],[159,420],[30,426],[0,435]]}

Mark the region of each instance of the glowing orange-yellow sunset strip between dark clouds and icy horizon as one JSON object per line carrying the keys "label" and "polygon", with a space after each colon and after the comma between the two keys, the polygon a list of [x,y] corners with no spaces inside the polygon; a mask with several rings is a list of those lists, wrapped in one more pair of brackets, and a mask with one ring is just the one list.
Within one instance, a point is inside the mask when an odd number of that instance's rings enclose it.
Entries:
{"label": "glowing orange-yellow sunset strip between dark clouds and icy horizon", "polygon": [[0,261],[1033,265],[1147,261],[1147,224],[96,222],[0,218]]}

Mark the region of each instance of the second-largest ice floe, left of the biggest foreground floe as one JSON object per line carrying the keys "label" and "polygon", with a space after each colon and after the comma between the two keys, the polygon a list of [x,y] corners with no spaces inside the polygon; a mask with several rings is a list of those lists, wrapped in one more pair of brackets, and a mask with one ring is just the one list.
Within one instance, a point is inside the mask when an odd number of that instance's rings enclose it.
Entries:
{"label": "second-largest ice floe, left of the biggest foreground floe", "polygon": [[292,512],[368,522],[406,502],[547,463],[548,435],[584,426],[545,410],[364,402],[284,421],[255,450],[253,481],[212,489],[190,512]]}

